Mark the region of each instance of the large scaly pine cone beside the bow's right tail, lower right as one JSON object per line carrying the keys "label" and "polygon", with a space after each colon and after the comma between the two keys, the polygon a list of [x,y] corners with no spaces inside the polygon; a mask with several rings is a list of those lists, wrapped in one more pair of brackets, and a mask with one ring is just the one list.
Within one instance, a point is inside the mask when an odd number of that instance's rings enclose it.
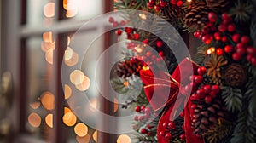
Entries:
{"label": "large scaly pine cone beside the bow's right tail, lower right", "polygon": [[201,134],[212,124],[218,123],[219,117],[224,117],[225,110],[222,107],[221,100],[212,100],[212,103],[206,103],[204,100],[194,101],[197,107],[192,115],[192,127],[195,134]]}

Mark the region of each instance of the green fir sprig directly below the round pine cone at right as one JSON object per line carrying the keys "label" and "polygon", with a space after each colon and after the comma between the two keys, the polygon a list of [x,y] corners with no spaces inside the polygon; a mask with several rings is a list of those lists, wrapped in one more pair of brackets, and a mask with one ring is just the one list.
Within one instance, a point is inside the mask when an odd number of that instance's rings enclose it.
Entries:
{"label": "green fir sprig directly below the round pine cone at right", "polygon": [[242,94],[241,89],[234,87],[221,87],[221,95],[230,112],[241,112]]}

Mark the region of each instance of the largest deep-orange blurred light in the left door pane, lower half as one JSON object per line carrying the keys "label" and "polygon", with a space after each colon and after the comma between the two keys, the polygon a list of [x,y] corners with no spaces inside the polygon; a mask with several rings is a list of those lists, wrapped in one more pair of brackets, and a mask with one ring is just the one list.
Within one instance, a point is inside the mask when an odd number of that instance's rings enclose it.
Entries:
{"label": "largest deep-orange blurred light in the left door pane, lower half", "polygon": [[44,92],[41,95],[41,102],[47,110],[53,110],[55,108],[55,96],[50,92]]}

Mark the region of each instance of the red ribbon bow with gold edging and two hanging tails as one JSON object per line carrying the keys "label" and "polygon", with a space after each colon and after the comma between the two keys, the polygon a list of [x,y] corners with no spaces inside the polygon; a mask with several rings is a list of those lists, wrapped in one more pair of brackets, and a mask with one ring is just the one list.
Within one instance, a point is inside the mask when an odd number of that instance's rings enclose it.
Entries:
{"label": "red ribbon bow with gold edging and two hanging tails", "polygon": [[[169,106],[160,117],[157,129],[157,138],[160,143],[168,143],[165,137],[160,136],[160,131],[164,130],[162,124],[172,121],[177,115],[177,107],[184,106],[184,129],[187,143],[203,143],[204,141],[195,136],[194,129],[191,128],[190,112],[192,109],[188,93],[185,92],[184,86],[189,84],[189,77],[197,70],[198,66],[189,60],[184,59],[175,69],[172,76],[165,72],[151,72],[150,70],[141,70],[140,77],[144,83],[144,92],[149,100],[150,105],[155,111]],[[180,92],[179,92],[180,91]],[[188,104],[183,105],[184,100]],[[187,103],[187,102],[185,102]]]}

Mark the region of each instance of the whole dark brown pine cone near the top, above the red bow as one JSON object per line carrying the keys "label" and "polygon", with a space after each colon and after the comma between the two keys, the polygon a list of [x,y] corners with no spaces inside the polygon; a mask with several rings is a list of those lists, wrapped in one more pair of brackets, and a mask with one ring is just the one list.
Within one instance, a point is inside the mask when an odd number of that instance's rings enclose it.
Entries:
{"label": "whole dark brown pine cone near the top, above the red bow", "polygon": [[206,3],[199,2],[190,4],[185,8],[185,11],[184,23],[189,31],[201,30],[206,26],[209,13],[209,8]]}

